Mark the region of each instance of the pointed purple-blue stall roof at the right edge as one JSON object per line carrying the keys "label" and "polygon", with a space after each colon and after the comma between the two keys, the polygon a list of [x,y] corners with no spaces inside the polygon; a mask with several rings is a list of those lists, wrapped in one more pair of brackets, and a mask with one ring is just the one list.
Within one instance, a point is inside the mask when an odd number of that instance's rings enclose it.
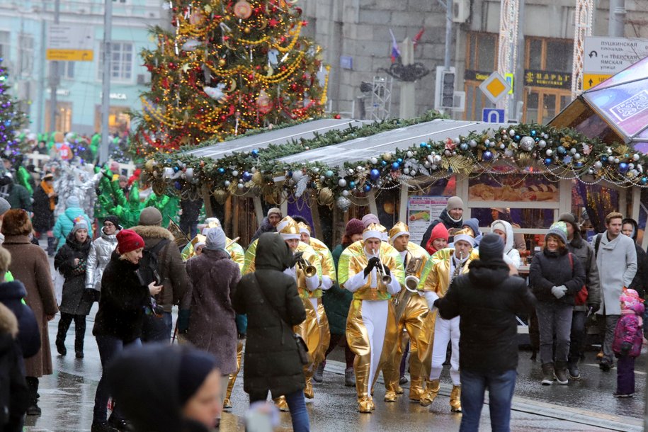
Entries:
{"label": "pointed purple-blue stall roof at the right edge", "polygon": [[582,93],[549,124],[648,152],[648,57]]}

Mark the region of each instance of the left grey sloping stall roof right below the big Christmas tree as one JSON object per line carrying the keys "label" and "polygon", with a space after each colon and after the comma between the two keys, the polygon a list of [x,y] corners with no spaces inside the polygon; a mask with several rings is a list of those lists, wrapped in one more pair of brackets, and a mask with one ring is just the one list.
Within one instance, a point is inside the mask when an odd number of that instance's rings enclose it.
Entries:
{"label": "left grey sloping stall roof right below the big Christmas tree", "polygon": [[267,132],[259,133],[257,135],[240,137],[236,140],[219,142],[218,144],[210,145],[208,147],[189,150],[188,152],[184,152],[184,154],[191,154],[195,157],[220,159],[232,152],[249,152],[252,149],[263,149],[268,147],[270,144],[288,144],[292,140],[300,140],[300,138],[308,140],[314,137],[316,132],[323,134],[329,130],[343,130],[347,127],[358,127],[368,123],[372,122],[370,122],[370,120],[336,120],[333,118],[324,118],[321,120],[301,123],[295,126],[282,127],[277,130],[268,130]]}

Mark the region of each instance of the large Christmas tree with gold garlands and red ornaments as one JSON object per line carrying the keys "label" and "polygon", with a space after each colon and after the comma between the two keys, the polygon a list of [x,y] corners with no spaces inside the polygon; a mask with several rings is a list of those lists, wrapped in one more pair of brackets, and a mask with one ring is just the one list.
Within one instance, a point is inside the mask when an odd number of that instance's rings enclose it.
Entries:
{"label": "large Christmas tree with gold garlands and red ornaments", "polygon": [[302,10],[285,0],[171,0],[174,33],[154,29],[144,50],[135,148],[171,151],[212,137],[320,115],[328,67],[302,36]]}

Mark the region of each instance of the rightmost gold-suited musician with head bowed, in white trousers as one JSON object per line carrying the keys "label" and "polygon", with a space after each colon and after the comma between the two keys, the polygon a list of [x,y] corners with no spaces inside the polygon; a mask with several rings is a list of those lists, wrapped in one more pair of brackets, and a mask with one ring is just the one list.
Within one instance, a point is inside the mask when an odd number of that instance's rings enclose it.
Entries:
{"label": "rightmost gold-suited musician with head bowed, in white trousers", "polygon": [[[468,229],[455,232],[454,248],[437,251],[426,263],[421,273],[418,289],[423,290],[430,312],[424,323],[424,329],[419,334],[419,356],[426,377],[426,390],[421,396],[420,404],[427,407],[437,397],[439,392],[439,377],[443,370],[443,362],[448,350],[448,342],[452,345],[450,356],[450,378],[453,390],[450,393],[450,409],[461,412],[461,382],[459,378],[459,317],[447,320],[438,317],[434,300],[445,296],[450,283],[457,275],[468,272],[468,264],[479,258],[473,251],[474,237]],[[429,335],[433,334],[430,339]]]}

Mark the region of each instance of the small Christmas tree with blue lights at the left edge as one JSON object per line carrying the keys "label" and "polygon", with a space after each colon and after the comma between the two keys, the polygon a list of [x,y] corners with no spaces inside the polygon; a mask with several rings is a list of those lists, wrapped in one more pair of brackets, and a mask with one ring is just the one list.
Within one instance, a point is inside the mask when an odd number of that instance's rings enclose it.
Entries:
{"label": "small Christmas tree with blue lights at the left edge", "polygon": [[[13,160],[22,153],[18,132],[27,123],[27,115],[18,108],[18,101],[9,94],[9,74],[0,58],[0,148]],[[25,149],[26,150],[26,149]]]}

